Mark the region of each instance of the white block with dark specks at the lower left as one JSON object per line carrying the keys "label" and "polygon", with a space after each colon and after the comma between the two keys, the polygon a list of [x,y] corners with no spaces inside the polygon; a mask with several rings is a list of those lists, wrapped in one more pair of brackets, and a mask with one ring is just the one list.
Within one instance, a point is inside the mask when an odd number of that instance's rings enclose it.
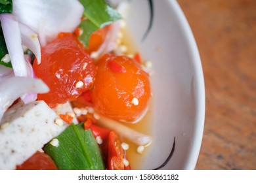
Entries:
{"label": "white block with dark specks at the lower left", "polygon": [[0,127],[0,169],[16,169],[68,124],[56,125],[58,115],[44,101],[17,103],[5,112]]}

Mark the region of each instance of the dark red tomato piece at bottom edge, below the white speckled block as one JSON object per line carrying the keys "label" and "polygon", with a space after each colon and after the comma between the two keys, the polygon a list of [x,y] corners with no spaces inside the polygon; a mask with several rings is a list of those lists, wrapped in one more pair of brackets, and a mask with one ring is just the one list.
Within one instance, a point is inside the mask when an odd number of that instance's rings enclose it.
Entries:
{"label": "dark red tomato piece at bottom edge, below the white speckled block", "polygon": [[17,170],[57,170],[57,167],[50,156],[43,152],[36,152],[22,165],[16,166]]}

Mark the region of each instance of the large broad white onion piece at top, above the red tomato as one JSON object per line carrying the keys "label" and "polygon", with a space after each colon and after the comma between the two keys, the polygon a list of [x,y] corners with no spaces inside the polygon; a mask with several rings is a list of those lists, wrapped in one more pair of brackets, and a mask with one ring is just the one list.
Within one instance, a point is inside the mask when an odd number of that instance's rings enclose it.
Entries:
{"label": "large broad white onion piece at top, above the red tomato", "polygon": [[78,0],[12,0],[12,13],[28,25],[45,45],[60,32],[73,32],[80,24],[83,6]]}

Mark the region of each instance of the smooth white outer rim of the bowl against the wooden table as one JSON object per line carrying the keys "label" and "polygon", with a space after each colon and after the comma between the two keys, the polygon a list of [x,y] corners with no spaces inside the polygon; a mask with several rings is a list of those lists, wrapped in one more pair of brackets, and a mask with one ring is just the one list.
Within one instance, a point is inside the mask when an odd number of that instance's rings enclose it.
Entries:
{"label": "smooth white outer rim of the bowl against the wooden table", "polygon": [[180,22],[181,29],[184,32],[185,39],[188,42],[188,50],[192,57],[192,66],[194,67],[195,90],[197,93],[195,99],[195,127],[194,134],[191,139],[190,152],[188,153],[186,163],[184,164],[184,169],[195,169],[198,156],[200,154],[200,148],[202,146],[205,122],[205,84],[203,78],[203,68],[196,40],[184,12],[182,12],[182,9],[177,1],[169,0],[169,4],[171,7],[173,7],[173,10],[177,15],[177,19]]}

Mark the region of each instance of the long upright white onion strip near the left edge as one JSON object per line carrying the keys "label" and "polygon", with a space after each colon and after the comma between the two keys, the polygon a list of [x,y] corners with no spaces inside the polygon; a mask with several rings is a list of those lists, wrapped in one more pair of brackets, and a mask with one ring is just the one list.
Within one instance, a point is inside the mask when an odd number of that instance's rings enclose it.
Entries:
{"label": "long upright white onion strip near the left edge", "polygon": [[0,14],[0,20],[14,75],[28,76],[18,22],[12,14]]}

